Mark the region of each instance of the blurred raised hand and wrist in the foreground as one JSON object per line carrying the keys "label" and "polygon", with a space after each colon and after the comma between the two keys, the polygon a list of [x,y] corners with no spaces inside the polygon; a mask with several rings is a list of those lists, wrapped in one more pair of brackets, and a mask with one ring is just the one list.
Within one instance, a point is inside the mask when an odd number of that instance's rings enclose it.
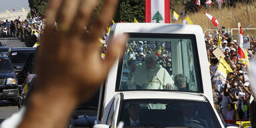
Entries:
{"label": "blurred raised hand and wrist in the foreground", "polygon": [[[98,0],[51,0],[37,56],[35,90],[19,127],[65,127],[73,109],[98,89],[123,53],[124,35],[113,39],[104,61],[98,41],[113,17],[117,0],[105,0],[93,30],[85,32],[97,4]],[[57,30],[53,19],[57,19]]]}

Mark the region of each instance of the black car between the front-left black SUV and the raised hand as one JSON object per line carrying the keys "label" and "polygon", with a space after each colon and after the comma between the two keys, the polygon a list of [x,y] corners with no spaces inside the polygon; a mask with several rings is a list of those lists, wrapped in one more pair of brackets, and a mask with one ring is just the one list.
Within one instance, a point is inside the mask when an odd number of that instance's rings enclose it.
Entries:
{"label": "black car between the front-left black SUV and the raised hand", "polygon": [[[23,67],[27,62],[27,59],[35,53],[35,48],[23,47],[23,48],[11,48],[9,49],[7,56],[13,64],[13,69],[15,69],[15,74],[23,71]],[[17,77],[19,85],[23,83],[23,78]]]}

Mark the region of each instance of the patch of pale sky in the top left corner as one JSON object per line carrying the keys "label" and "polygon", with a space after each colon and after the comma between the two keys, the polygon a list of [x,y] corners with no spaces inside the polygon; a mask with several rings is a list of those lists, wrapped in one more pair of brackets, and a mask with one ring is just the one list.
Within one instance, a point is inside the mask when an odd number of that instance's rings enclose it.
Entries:
{"label": "patch of pale sky in the top left corner", "polygon": [[13,11],[13,9],[22,10],[23,7],[26,10],[29,10],[29,0],[0,0],[0,12],[5,12],[5,9],[8,11]]}

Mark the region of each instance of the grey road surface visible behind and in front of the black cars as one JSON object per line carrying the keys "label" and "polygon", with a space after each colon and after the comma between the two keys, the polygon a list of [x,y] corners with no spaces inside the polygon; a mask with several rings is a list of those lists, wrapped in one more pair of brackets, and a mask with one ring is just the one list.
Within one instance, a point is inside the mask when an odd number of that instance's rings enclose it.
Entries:
{"label": "grey road surface visible behind and in front of the black cars", "polygon": [[[5,44],[6,47],[25,47],[25,43],[19,41],[17,38],[0,38],[0,41]],[[8,101],[0,101],[0,122],[10,117],[18,110],[17,106],[11,106]]]}

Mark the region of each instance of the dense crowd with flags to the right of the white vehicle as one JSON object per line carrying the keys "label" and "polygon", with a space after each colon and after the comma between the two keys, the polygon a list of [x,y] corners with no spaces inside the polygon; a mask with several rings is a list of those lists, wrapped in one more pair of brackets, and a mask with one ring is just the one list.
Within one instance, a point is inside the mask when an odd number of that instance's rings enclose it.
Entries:
{"label": "dense crowd with flags to the right of the white vehicle", "polygon": [[[218,45],[219,36],[221,47]],[[210,73],[215,108],[226,121],[248,120],[250,115],[255,113],[253,112],[255,110],[250,111],[255,94],[252,93],[251,83],[249,82],[249,65],[238,58],[239,42],[232,39],[223,27],[219,31],[215,31],[213,35],[205,34],[205,43],[207,56],[211,64]],[[247,52],[249,59],[255,56],[255,46],[256,40],[254,37],[243,37],[243,48],[247,49],[245,52]],[[216,76],[219,60],[215,57],[213,51],[218,47],[225,55],[223,58],[233,70],[228,73],[227,77]]]}

